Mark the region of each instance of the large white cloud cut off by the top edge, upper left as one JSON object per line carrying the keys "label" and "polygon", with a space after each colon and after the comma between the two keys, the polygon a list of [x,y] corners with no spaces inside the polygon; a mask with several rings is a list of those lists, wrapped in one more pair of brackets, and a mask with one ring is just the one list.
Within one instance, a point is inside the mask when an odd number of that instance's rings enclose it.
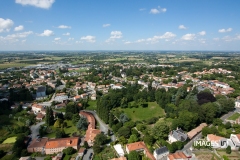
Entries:
{"label": "large white cloud cut off by the top edge, upper left", "polygon": [[51,8],[55,0],[15,0],[15,3],[21,4],[23,6],[29,5],[43,9]]}

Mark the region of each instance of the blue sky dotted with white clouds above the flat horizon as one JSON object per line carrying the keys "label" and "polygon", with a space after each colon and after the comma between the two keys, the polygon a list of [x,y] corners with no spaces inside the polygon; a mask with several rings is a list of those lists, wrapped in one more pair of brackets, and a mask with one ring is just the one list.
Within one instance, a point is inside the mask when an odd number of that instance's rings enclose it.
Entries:
{"label": "blue sky dotted with white clouds above the flat horizon", "polygon": [[239,0],[0,0],[0,51],[240,51]]}

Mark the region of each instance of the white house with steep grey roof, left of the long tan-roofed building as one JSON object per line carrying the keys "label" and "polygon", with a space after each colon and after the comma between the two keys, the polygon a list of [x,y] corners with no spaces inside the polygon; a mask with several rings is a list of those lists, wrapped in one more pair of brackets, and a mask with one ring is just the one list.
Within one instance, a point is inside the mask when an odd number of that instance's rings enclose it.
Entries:
{"label": "white house with steep grey roof, left of the long tan-roofed building", "polygon": [[183,132],[181,128],[177,128],[177,130],[173,130],[170,132],[168,135],[168,141],[170,143],[176,142],[176,141],[181,141],[184,142],[188,138],[187,134]]}

